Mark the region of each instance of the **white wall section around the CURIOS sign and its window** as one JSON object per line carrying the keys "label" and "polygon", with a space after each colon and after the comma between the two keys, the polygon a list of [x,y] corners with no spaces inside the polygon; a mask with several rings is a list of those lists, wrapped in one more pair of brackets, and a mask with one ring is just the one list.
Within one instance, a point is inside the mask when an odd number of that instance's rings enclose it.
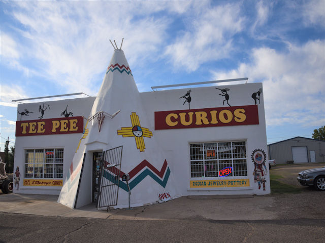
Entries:
{"label": "white wall section around the CURIOS sign and its window", "polygon": [[[261,83],[229,85],[218,87],[220,89],[229,88],[229,104],[231,106],[254,105],[251,98],[252,93],[262,88]],[[168,154],[168,163],[174,174],[176,186],[181,190],[182,195],[198,194],[267,194],[270,193],[269,177],[266,183],[266,190],[258,189],[254,183],[254,164],[251,160],[251,153],[254,149],[262,149],[267,153],[266,127],[263,92],[261,94],[261,104],[257,101],[259,125],[206,127],[206,128],[186,128],[170,130],[154,130],[154,111],[186,110],[188,103],[183,105],[184,99],[179,97],[191,90],[190,109],[229,107],[226,102],[222,105],[224,96],[215,87],[186,88],[178,90],[166,90],[158,92],[142,93],[142,101],[151,121],[154,136],[158,138],[159,145]],[[250,186],[239,189],[195,189],[189,188],[190,181],[190,155],[189,143],[193,142],[225,142],[225,141],[246,141],[247,155],[247,177],[234,177],[234,179],[249,178]],[[266,164],[267,168],[268,165]],[[268,170],[268,169],[267,169]],[[209,180],[210,178],[206,178]],[[211,178],[215,179],[215,178]],[[193,178],[194,180],[194,178]],[[197,180],[197,178],[195,178]]]}

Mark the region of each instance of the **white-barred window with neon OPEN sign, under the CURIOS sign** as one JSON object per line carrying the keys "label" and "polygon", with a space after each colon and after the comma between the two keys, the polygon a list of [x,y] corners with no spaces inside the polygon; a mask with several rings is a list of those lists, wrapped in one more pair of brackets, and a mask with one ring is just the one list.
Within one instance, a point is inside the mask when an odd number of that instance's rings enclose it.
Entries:
{"label": "white-barred window with neon OPEN sign, under the CURIOS sign", "polygon": [[[231,167],[228,177],[247,176],[246,142],[190,144],[191,177],[221,177],[219,172]],[[221,173],[222,174],[222,173]]]}

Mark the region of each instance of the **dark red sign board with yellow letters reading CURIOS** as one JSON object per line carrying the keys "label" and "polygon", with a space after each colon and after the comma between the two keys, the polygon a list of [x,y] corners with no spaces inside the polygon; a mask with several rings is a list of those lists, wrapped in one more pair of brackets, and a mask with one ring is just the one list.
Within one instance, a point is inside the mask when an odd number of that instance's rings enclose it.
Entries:
{"label": "dark red sign board with yellow letters reading CURIOS", "polygon": [[155,111],[155,130],[258,125],[257,105]]}

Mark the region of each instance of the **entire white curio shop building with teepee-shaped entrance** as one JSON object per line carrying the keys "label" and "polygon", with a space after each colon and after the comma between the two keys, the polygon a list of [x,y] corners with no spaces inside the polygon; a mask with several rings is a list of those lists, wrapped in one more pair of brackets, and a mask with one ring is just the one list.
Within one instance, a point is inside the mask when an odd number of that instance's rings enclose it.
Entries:
{"label": "entire white curio shop building with teepee-shaped entrance", "polygon": [[97,97],[18,105],[14,193],[71,208],[128,207],[128,188],[132,207],[268,194],[266,152],[261,83],[139,93],[117,49]]}

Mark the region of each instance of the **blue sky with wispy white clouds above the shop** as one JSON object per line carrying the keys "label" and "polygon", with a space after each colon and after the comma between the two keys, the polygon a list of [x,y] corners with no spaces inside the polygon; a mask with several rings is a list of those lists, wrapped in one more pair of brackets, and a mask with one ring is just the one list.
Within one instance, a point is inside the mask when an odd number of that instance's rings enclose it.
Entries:
{"label": "blue sky with wispy white clouds above the shop", "polygon": [[122,49],[140,92],[262,82],[268,143],[325,125],[325,1],[0,1],[1,151],[14,99],[95,96]]}

